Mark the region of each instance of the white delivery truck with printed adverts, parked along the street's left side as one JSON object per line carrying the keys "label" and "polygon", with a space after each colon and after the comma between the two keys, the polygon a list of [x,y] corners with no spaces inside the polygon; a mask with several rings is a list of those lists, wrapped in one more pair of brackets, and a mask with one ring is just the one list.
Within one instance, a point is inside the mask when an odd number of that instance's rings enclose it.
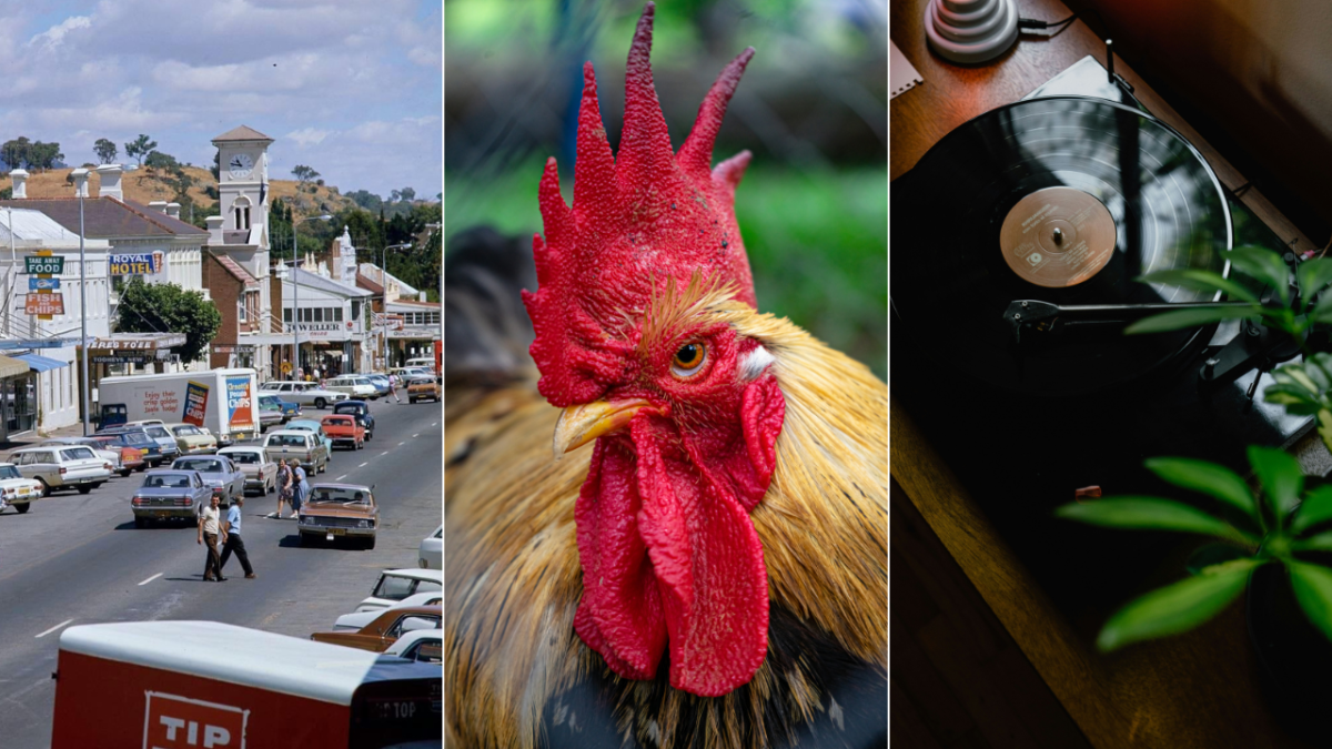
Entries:
{"label": "white delivery truck with printed adverts, parked along the street's left side", "polygon": [[99,426],[161,418],[206,426],[220,446],[260,434],[258,374],[253,369],[103,377],[97,406]]}

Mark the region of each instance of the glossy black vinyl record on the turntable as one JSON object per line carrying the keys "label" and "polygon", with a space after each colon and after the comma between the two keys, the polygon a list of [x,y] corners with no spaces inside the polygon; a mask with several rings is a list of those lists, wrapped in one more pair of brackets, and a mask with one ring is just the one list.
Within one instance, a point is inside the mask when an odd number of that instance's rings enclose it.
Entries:
{"label": "glossy black vinyl record on the turntable", "polygon": [[1220,183],[1168,125],[1102,99],[1020,101],[960,125],[892,183],[894,333],[923,365],[1004,390],[1100,390],[1192,351],[1200,331],[1124,336],[1110,324],[1018,343],[1008,304],[1212,301],[1135,279],[1225,273],[1231,241]]}

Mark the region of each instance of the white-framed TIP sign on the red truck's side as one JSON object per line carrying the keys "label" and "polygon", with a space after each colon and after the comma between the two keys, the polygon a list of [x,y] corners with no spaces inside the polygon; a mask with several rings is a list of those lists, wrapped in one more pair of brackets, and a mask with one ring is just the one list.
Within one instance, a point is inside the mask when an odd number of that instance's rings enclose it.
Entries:
{"label": "white-framed TIP sign on the red truck's side", "polygon": [[144,749],[245,749],[249,710],[148,692]]}

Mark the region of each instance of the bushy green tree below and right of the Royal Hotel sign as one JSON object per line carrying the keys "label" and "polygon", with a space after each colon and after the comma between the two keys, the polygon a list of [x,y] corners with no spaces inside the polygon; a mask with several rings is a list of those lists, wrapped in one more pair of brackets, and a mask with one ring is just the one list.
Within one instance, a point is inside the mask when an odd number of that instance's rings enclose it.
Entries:
{"label": "bushy green tree below and right of the Royal Hotel sign", "polygon": [[185,344],[172,351],[181,361],[194,361],[222,325],[222,313],[202,292],[176,284],[148,284],[133,277],[120,292],[116,325],[125,333],[185,333]]}

